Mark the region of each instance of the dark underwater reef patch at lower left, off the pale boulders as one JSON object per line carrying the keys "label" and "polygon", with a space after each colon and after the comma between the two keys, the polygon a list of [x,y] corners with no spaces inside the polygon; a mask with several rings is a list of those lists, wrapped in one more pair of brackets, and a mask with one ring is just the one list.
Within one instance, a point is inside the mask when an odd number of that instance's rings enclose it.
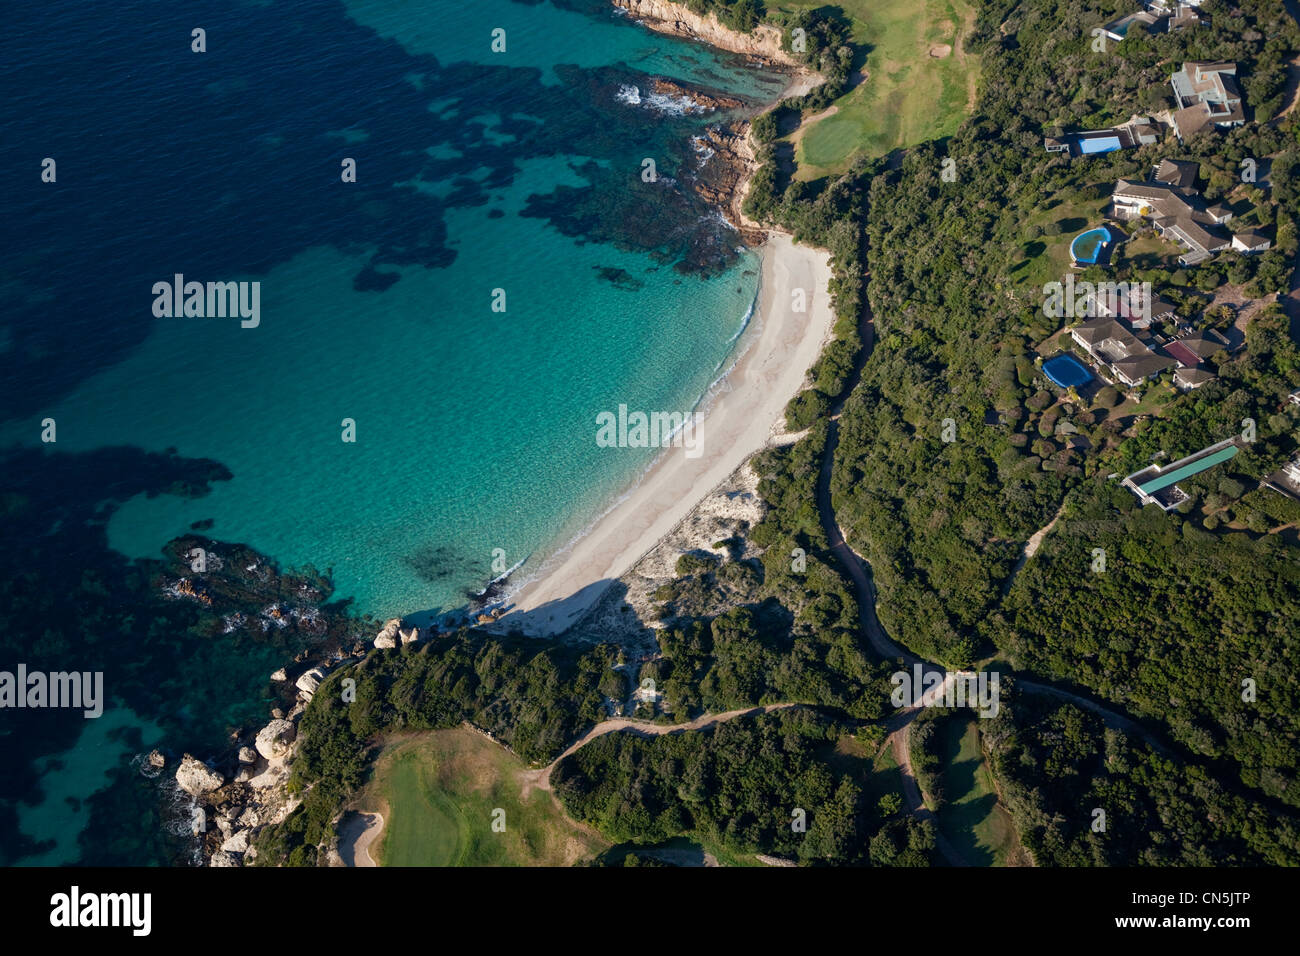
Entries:
{"label": "dark underwater reef patch at lower left, off the pale boulders", "polygon": [[[0,455],[0,661],[29,671],[103,672],[108,710],[134,715],[109,731],[129,754],[159,744],[177,753],[213,748],[231,727],[265,718],[278,698],[273,670],[308,648],[328,654],[364,630],[346,602],[329,602],[328,578],[311,568],[282,572],[239,545],[194,535],[160,561],[127,561],[108,546],[105,527],[122,501],[203,497],[212,481],[230,477],[216,462],[138,449],[16,449]],[[202,576],[191,572],[195,549],[205,553]],[[14,709],[4,721],[0,865],[10,865],[52,849],[20,832],[20,812],[40,801],[42,773],[58,769],[47,756],[73,748],[96,721],[70,709]],[[144,740],[142,724],[160,728],[161,739]],[[155,786],[129,760],[109,778],[83,808],[91,826],[79,853],[58,852],[103,865],[182,857],[187,844],[164,832]],[[155,825],[129,827],[130,836],[98,825],[124,808]],[[144,858],[136,838],[151,842]]]}

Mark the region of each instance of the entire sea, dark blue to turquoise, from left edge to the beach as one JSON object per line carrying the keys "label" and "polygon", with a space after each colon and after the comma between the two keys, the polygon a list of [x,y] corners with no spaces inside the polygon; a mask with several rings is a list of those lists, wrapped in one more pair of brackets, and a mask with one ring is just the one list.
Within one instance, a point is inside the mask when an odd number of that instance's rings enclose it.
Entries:
{"label": "entire sea, dark blue to turquoise, from left edge to the beach", "polygon": [[[0,861],[176,861],[133,758],[265,719],[283,648],[124,636],[100,581],[169,540],[321,568],[387,618],[526,578],[608,507],[654,451],[598,447],[595,415],[686,411],[734,359],[757,256],[689,183],[703,129],[781,87],[601,0],[9,5],[0,646],[107,661],[113,705],[43,749],[0,711]],[[156,317],[178,273],[257,282],[257,326]]]}

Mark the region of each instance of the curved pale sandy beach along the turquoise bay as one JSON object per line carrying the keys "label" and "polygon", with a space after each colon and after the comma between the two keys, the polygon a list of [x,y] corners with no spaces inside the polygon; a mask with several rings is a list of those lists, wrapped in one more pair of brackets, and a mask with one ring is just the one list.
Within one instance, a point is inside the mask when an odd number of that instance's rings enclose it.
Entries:
{"label": "curved pale sandy beach along the turquoise bay", "polygon": [[[738,342],[740,362],[706,410],[702,454],[688,458],[684,449],[667,449],[594,528],[512,596],[514,609],[493,630],[517,627],[541,636],[568,628],[710,490],[784,431],[785,406],[803,388],[835,325],[827,291],[831,261],[829,254],[781,234],[759,251],[759,306]],[[807,312],[792,311],[796,289],[805,290]]]}

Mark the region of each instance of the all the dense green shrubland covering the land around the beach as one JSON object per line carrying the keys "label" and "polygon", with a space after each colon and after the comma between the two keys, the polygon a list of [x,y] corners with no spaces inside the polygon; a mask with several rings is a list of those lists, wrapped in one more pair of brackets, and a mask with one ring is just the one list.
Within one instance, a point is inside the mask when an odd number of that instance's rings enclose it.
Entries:
{"label": "all the dense green shrubland covering the land around the beach", "polygon": [[[748,29],[750,7],[694,4],[705,7]],[[1300,510],[1256,488],[1297,449],[1297,412],[1284,397],[1300,384],[1300,354],[1284,316],[1275,307],[1254,312],[1244,350],[1212,356],[1217,381],[1187,394],[1164,382],[1130,395],[1061,394],[1035,364],[1040,350],[1069,347],[1060,336],[1066,320],[1041,306],[1070,237],[1095,224],[1115,179],[1141,178],[1165,157],[1200,163],[1205,199],[1230,204],[1234,228],[1265,229],[1274,248],[1176,271],[1167,250],[1143,235],[1109,272],[1082,277],[1150,281],[1186,319],[1218,329],[1231,323],[1213,304],[1223,284],[1248,298],[1286,287],[1300,212],[1291,176],[1300,125],[1294,116],[1262,121],[1280,105],[1300,29],[1273,0],[1236,8],[1240,16],[1206,0],[1210,27],[1134,34],[1098,53],[1091,27],[1127,5],[983,0],[968,39],[983,65],[975,116],[946,140],[888,163],[858,161],[833,179],[800,181],[779,159],[783,120],[812,101],[784,104],[755,124],[763,165],[746,212],[831,250],[836,339],[786,412],[807,434],[754,460],[768,505],[748,529],[760,559],[738,559],[732,548],[689,555],[655,596],[666,624],[660,654],[634,676],[655,680],[662,719],[777,701],[838,719],[884,714],[888,666],[866,649],[815,507],[827,412],[844,401],[832,499],[846,538],[872,566],[890,636],[946,665],[996,656],[1023,674],[1084,688],[1174,748],[1153,750],[1052,698],[1004,700],[979,731],[1036,861],[1294,857],[1297,830],[1283,808],[1300,805],[1300,701],[1286,665],[1300,574],[1294,537],[1273,532]],[[786,26],[788,16],[768,13]],[[835,82],[845,78],[854,56],[844,49],[842,18],[797,16],[819,38],[816,65]],[[1238,62],[1258,122],[1088,159],[1043,150],[1057,126],[1102,126],[1167,107],[1169,74],[1186,60]],[[1247,157],[1271,160],[1271,185],[1240,181]],[[868,306],[876,343],[845,395]],[[1141,510],[1112,477],[1157,453],[1173,459],[1239,434],[1245,420],[1254,427],[1249,446],[1186,483],[1192,498],[1175,512]],[[1024,542],[1058,511],[1013,580]],[[1098,549],[1102,572],[1092,570]],[[702,610],[718,606],[725,610]],[[372,657],[358,670],[358,704],[318,693],[303,718],[299,784],[317,784],[269,838],[277,858],[315,858],[374,735],[472,719],[542,760],[598,719],[606,697],[620,696],[614,654],[458,635]],[[1249,700],[1245,679],[1254,682]],[[948,767],[924,727],[914,740],[919,771],[942,797]],[[555,783],[569,812],[612,840],[693,836],[807,862],[930,861],[933,834],[896,816],[896,795],[864,797],[863,783],[836,763],[840,734],[832,718],[796,710],[705,732],[607,735],[566,760]],[[807,835],[789,829],[786,808],[797,801],[810,810]],[[1104,834],[1089,829],[1098,806]]]}

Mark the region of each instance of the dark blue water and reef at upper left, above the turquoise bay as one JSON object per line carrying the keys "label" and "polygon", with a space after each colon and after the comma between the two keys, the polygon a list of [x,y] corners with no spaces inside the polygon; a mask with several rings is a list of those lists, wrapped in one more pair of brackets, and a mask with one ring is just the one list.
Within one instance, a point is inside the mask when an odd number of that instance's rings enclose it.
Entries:
{"label": "dark blue water and reef at upper left, above the turquoise bay", "polygon": [[[322,243],[373,247],[356,286],[382,291],[395,281],[385,265],[450,264],[448,209],[486,204],[533,159],[572,156],[588,181],[529,203],[526,215],[566,235],[654,250],[689,271],[734,259],[725,226],[672,178],[689,174],[688,131],[725,117],[627,109],[620,86],[645,77],[625,65],[559,65],[563,82],[546,83],[538,69],[439,64],[360,27],[337,0],[64,0],[8,16],[0,118],[10,143],[56,157],[58,187],[27,150],[0,156],[18,226],[0,238],[5,418],[39,411],[138,346],[150,332],[140,290],[170,278],[162,263],[234,277]],[[198,20],[220,79],[177,55]],[[481,114],[498,122],[469,121]],[[339,189],[341,157],[356,151],[347,130],[361,120],[365,161]],[[630,187],[645,156],[662,190]]]}

